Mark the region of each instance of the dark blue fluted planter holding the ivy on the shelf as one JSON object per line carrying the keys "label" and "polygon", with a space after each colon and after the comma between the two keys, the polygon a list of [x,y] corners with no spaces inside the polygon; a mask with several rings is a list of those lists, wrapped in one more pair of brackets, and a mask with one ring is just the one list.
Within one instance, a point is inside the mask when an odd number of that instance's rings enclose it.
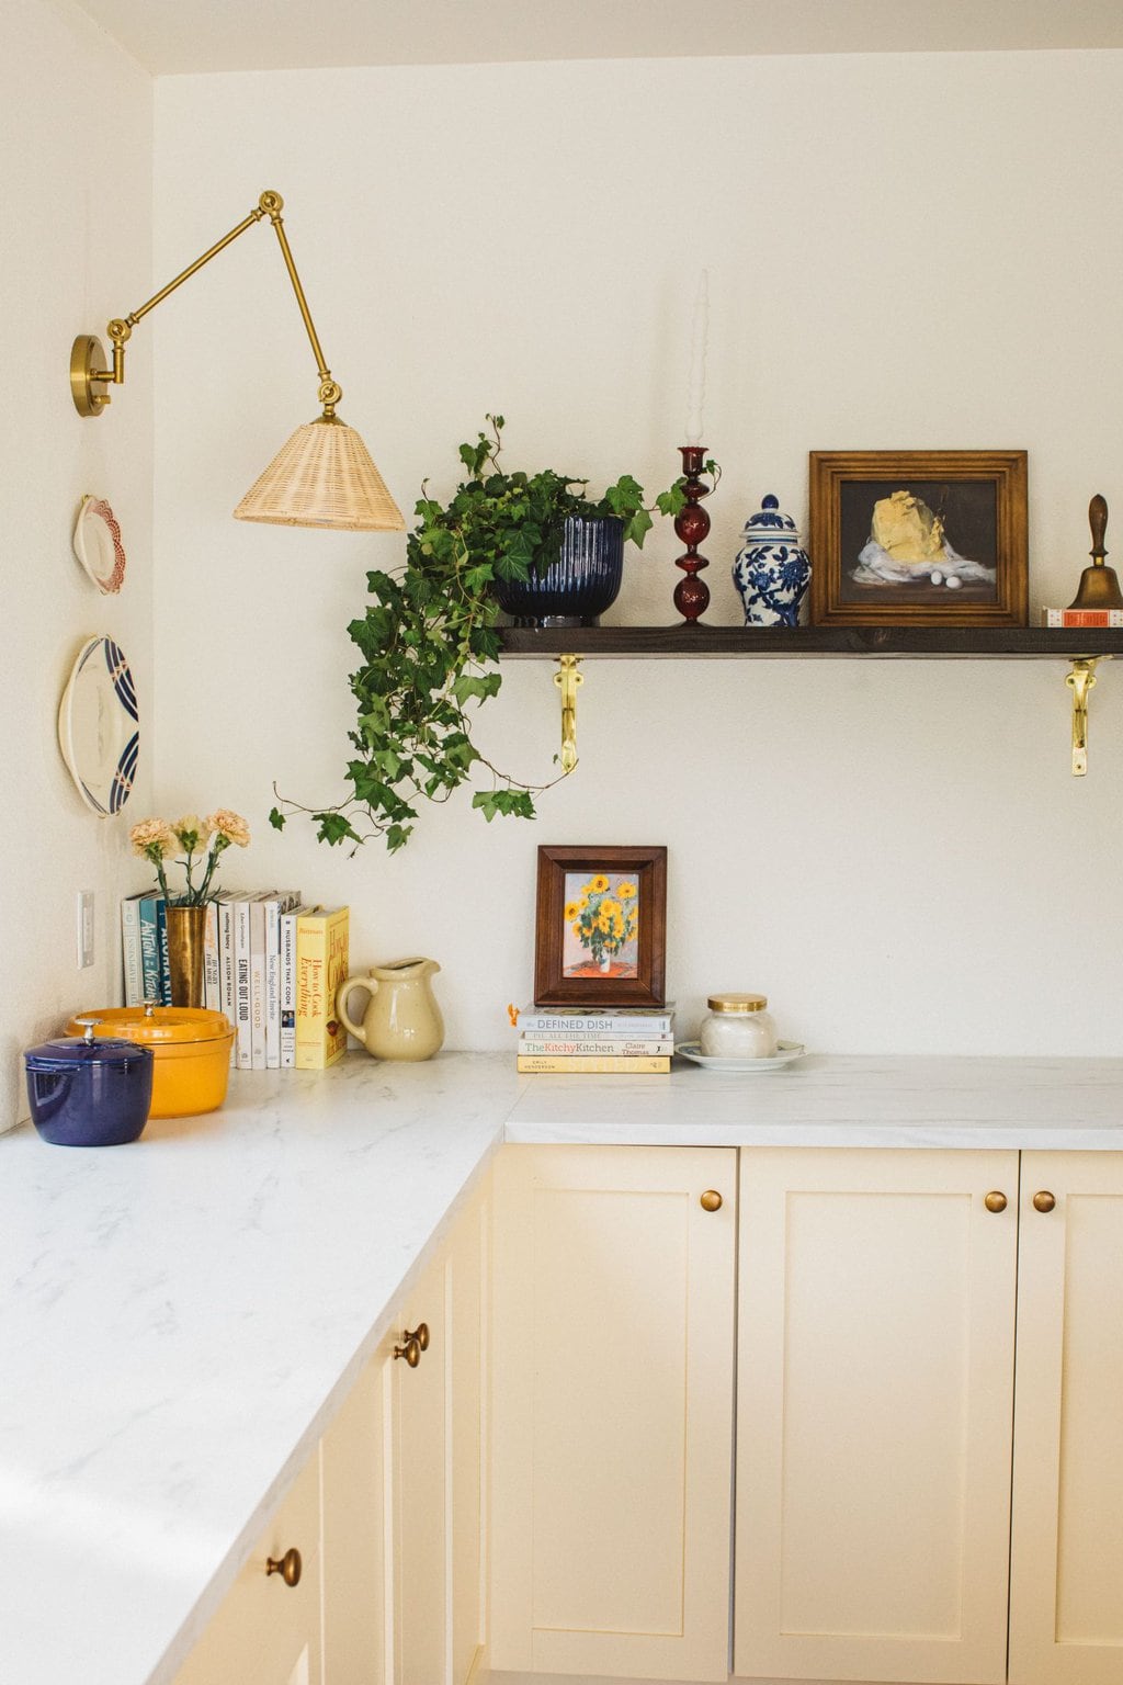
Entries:
{"label": "dark blue fluted planter holding the ivy on the shelf", "polygon": [[557,559],[529,580],[495,580],[503,613],[520,627],[594,627],[625,575],[625,527],[616,516],[569,516]]}

